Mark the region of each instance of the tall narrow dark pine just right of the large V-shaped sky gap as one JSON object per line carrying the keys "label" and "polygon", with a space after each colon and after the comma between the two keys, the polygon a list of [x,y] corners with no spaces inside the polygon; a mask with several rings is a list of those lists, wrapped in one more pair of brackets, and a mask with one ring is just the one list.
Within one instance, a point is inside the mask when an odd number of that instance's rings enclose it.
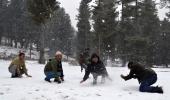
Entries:
{"label": "tall narrow dark pine just right of the large V-shaped sky gap", "polygon": [[91,0],[82,0],[79,7],[78,32],[77,32],[77,52],[82,52],[85,48],[91,48],[91,25],[90,25],[90,7]]}

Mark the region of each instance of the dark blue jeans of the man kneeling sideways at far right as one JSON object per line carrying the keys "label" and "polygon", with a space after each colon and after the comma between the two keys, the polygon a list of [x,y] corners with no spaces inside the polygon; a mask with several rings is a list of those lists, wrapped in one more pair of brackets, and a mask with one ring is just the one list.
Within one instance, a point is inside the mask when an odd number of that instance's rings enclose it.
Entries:
{"label": "dark blue jeans of the man kneeling sideways at far right", "polygon": [[151,86],[157,81],[157,75],[152,75],[148,79],[141,82],[139,90],[141,92],[152,92],[155,87]]}

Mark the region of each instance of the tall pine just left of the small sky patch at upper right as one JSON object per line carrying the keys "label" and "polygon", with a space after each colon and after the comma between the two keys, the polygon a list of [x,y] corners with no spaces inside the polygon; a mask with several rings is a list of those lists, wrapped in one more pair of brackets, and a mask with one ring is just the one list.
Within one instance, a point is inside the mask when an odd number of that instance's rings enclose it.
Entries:
{"label": "tall pine just left of the small sky patch at upper right", "polygon": [[140,26],[143,36],[149,39],[146,64],[152,66],[155,62],[155,52],[157,51],[157,37],[160,34],[160,21],[154,1],[144,0],[140,16]]}

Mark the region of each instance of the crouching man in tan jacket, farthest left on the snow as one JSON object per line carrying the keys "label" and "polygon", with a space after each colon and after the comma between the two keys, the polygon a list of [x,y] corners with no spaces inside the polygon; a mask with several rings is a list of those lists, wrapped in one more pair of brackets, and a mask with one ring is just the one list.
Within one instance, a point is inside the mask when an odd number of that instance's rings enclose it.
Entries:
{"label": "crouching man in tan jacket, farthest left on the snow", "polygon": [[27,77],[32,77],[27,73],[24,53],[20,53],[18,57],[11,62],[8,70],[12,74],[11,78],[21,78],[23,74]]}

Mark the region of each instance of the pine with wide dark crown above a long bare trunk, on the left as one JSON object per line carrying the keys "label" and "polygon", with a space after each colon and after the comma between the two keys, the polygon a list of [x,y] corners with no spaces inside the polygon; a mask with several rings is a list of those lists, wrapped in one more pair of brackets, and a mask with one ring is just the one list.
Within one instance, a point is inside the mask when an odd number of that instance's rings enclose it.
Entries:
{"label": "pine with wide dark crown above a long bare trunk, on the left", "polygon": [[28,0],[28,11],[33,21],[41,27],[41,41],[40,41],[40,59],[39,63],[44,64],[44,48],[45,48],[45,35],[47,34],[48,26],[46,23],[52,17],[54,11],[59,6],[56,0]]}

